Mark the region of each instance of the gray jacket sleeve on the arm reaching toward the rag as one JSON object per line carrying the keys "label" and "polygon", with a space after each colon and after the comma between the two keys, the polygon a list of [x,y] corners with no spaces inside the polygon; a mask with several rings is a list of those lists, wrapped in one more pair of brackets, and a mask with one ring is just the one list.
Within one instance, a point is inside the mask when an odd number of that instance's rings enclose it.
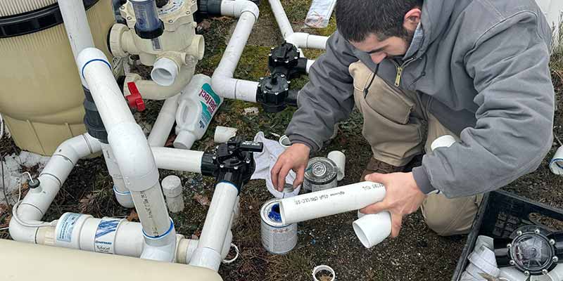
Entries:
{"label": "gray jacket sleeve on the arm reaching toward the rag", "polygon": [[329,37],[327,52],[311,66],[309,82],[299,91],[298,110],[286,135],[291,143],[304,143],[312,151],[329,140],[334,125],[348,118],[354,107],[353,79],[348,66],[358,61],[353,46],[338,32]]}

